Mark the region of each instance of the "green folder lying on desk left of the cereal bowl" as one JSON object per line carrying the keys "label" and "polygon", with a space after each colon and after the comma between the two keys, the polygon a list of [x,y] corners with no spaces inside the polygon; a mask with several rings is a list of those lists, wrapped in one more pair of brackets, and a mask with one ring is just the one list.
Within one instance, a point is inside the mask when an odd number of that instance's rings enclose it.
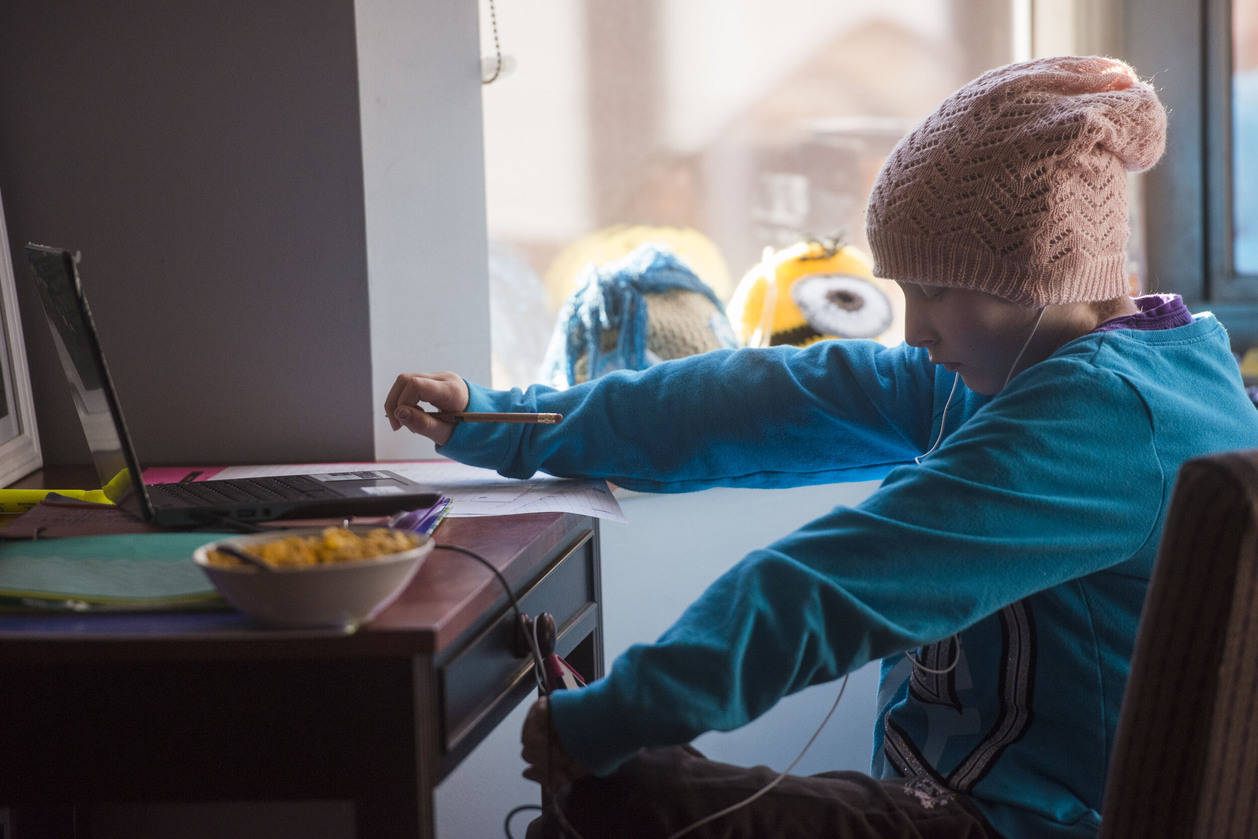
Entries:
{"label": "green folder lying on desk left of the cereal bowl", "polygon": [[192,551],[218,533],[81,536],[0,545],[0,608],[180,609],[221,605]]}

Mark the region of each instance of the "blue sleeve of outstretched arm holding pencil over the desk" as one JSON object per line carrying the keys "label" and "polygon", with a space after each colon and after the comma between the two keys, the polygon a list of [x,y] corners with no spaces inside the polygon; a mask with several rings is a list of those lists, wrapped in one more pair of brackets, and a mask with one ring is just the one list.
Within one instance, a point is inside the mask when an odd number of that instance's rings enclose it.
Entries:
{"label": "blue sleeve of outstretched arm holding pencil over the desk", "polygon": [[[952,382],[942,372],[937,382],[927,353],[907,345],[823,341],[718,350],[565,391],[469,385],[469,411],[557,413],[564,421],[464,423],[439,452],[512,478],[545,470],[645,492],[881,478],[928,448],[940,389],[946,397]],[[957,414],[960,403],[984,399],[959,390]]]}

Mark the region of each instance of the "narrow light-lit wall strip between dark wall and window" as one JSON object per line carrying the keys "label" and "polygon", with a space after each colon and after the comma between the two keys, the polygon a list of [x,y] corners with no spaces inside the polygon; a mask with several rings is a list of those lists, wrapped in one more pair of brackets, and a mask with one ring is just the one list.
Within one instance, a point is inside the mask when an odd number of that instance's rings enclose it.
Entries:
{"label": "narrow light-lit wall strip between dark wall and window", "polygon": [[[489,384],[477,8],[356,0],[375,455],[433,457],[384,415],[398,374]],[[366,371],[364,371],[366,372]]]}

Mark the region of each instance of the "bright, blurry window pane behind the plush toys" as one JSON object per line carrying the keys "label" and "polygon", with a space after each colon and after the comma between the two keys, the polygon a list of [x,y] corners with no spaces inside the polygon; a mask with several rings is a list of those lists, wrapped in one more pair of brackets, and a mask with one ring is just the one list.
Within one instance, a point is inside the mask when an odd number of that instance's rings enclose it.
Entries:
{"label": "bright, blurry window pane behind the plush toys", "polygon": [[838,234],[866,250],[884,157],[957,87],[1021,58],[1018,9],[499,0],[516,69],[484,88],[494,386],[536,380],[577,272],[644,235],[722,301],[765,245]]}

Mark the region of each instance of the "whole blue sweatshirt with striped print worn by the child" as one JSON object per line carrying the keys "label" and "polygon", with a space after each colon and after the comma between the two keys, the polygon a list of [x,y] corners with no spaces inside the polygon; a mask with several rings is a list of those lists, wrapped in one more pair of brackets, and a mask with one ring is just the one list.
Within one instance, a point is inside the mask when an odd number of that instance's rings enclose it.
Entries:
{"label": "whole blue sweatshirt with striped print worn by the child", "polygon": [[[886,475],[858,507],[755,551],[654,644],[554,697],[604,775],[645,746],[746,725],[882,658],[873,774],[967,795],[998,830],[1092,836],[1136,624],[1180,464],[1258,447],[1223,327],[1072,341],[998,396],[922,350],[827,341],[718,351],[554,391],[472,387],[442,454],[652,492]],[[905,657],[917,650],[932,674]]]}

